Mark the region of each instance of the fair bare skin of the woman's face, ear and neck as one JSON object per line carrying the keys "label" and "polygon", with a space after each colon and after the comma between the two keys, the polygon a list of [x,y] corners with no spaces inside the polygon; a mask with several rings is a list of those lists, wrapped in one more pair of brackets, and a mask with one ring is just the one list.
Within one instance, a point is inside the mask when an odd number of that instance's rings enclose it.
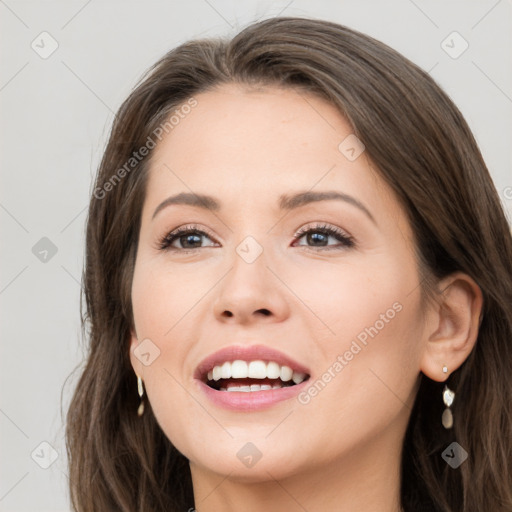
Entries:
{"label": "fair bare skin of the woman's face, ear and neck", "polygon": [[[353,130],[334,106],[291,89],[234,84],[195,98],[152,155],[130,357],[163,432],[190,461],[196,510],[397,512],[420,372],[444,381],[464,362],[481,291],[457,273],[439,283],[437,302],[422,301],[405,212],[365,152],[350,161],[339,150]],[[331,190],[370,215],[334,199],[279,209],[281,195]],[[181,192],[213,196],[220,209],[174,204],[153,218]],[[207,235],[159,247],[190,224]],[[342,230],[354,245],[318,225]],[[294,238],[300,228],[313,233]],[[236,251],[248,236],[263,249],[252,263]],[[212,404],[193,378],[223,347],[264,344],[318,381],[397,303],[401,310],[307,404],[293,398],[233,412]],[[160,350],[148,366],[133,352],[145,339]],[[262,453],[250,468],[237,457],[248,442]]]}

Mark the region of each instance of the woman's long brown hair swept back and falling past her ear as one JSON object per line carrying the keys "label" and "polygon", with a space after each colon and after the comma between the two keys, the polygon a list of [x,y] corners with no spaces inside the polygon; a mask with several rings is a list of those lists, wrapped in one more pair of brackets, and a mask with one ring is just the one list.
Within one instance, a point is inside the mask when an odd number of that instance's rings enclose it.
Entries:
{"label": "woman's long brown hair swept back and falling past her ear", "polygon": [[[194,506],[187,459],[150,406],[142,418],[135,412],[130,290],[151,154],[130,159],[175,109],[223,83],[293,88],[339,108],[407,212],[424,289],[433,293],[436,279],[455,271],[480,286],[478,340],[449,380],[453,429],[440,426],[442,384],[423,376],[404,439],[401,499],[407,512],[511,512],[512,236],[477,144],[447,95],[402,55],[347,27],[291,17],[255,23],[231,40],[182,44],[119,109],[87,220],[88,354],[66,430],[75,509]],[[441,457],[454,440],[469,454],[456,470]]]}

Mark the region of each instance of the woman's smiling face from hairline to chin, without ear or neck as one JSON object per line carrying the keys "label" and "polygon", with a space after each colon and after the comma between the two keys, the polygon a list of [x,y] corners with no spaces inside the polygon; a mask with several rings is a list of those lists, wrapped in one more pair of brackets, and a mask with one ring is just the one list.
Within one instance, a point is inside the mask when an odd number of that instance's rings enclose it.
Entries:
{"label": "woman's smiling face from hairline to chin, without ear or neck", "polygon": [[[396,452],[425,335],[403,210],[329,103],[234,85],[195,99],[154,150],[132,287],[159,425],[193,471],[244,480]],[[215,362],[240,375],[217,387],[263,388],[210,388]]]}

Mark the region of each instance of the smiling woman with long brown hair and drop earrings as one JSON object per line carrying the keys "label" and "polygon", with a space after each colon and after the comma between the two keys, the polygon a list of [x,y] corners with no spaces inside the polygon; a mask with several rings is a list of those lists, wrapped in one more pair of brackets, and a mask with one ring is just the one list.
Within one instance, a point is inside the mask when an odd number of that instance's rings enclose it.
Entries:
{"label": "smiling woman with long brown hair and drop earrings", "polygon": [[121,106],[84,271],[76,510],[512,511],[512,237],[384,44],[274,18]]}

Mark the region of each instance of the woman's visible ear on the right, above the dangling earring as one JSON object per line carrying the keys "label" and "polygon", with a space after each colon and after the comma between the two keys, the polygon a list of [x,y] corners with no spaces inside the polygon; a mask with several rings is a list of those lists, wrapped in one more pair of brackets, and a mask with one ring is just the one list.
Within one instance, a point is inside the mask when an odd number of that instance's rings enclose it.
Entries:
{"label": "woman's visible ear on the right, above the dangling earring", "polygon": [[[432,380],[445,381],[475,346],[483,296],[467,274],[456,272],[439,283],[439,299],[431,306],[420,369]],[[446,366],[447,372],[443,372]]]}

